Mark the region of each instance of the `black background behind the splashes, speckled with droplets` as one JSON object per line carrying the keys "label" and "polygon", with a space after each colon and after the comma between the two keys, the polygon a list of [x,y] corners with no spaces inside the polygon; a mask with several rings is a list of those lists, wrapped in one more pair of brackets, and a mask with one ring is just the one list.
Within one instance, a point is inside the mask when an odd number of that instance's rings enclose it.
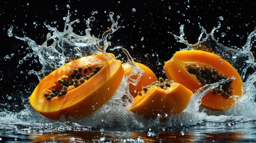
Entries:
{"label": "black background behind the splashes, speckled with droplets", "polygon": [[[66,5],[70,5],[67,8]],[[71,20],[79,19],[81,23],[74,24],[74,32],[83,32],[87,28],[85,20],[91,17],[92,11],[95,21],[91,23],[91,34],[98,37],[110,26],[109,12],[120,15],[119,26],[124,28],[113,33],[112,46],[123,46],[128,49],[135,61],[149,66],[157,76],[165,76],[164,62],[169,60],[175,51],[185,45],[168,32],[179,35],[180,26],[184,24],[185,38],[189,43],[198,41],[201,29],[199,23],[207,32],[213,27],[221,27],[215,32],[218,42],[226,46],[241,47],[255,27],[254,1],[1,1],[0,4],[0,111],[18,111],[27,104],[27,98],[32,93],[39,80],[35,75],[29,75],[29,70],[41,69],[40,64],[32,60],[18,64],[27,53],[27,44],[14,37],[8,37],[7,30],[14,26],[13,34],[27,36],[35,40],[38,45],[45,41],[49,32],[44,22],[53,27],[58,26],[62,31],[63,17],[69,10]],[[132,11],[135,8],[135,12]],[[223,17],[224,20],[220,20]],[[53,24],[56,21],[56,24]],[[33,24],[33,23],[36,24]],[[226,36],[222,37],[222,33]],[[141,41],[141,38],[144,38]],[[133,46],[134,48],[131,48]],[[144,48],[143,48],[144,46]],[[14,56],[11,59],[6,55]],[[157,56],[158,54],[158,56]],[[147,55],[147,56],[145,56]],[[161,63],[161,64],[159,64]]]}

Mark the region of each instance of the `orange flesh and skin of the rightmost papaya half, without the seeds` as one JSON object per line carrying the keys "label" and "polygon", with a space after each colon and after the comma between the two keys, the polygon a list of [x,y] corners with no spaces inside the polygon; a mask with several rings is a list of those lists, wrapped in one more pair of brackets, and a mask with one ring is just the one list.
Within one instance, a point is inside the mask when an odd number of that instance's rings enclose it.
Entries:
{"label": "orange flesh and skin of the rightmost papaya half, without the seeds", "polygon": [[243,82],[238,71],[226,60],[211,52],[201,50],[189,50],[176,52],[171,60],[166,61],[164,69],[166,76],[174,82],[181,83],[189,88],[192,92],[196,92],[202,87],[202,84],[196,79],[196,76],[186,70],[187,64],[199,64],[201,66],[212,67],[218,73],[224,74],[227,77],[235,76],[231,83],[232,95],[230,98],[220,94],[214,94],[210,91],[202,98],[202,105],[212,110],[226,110],[235,104],[234,95],[239,98],[243,95]]}

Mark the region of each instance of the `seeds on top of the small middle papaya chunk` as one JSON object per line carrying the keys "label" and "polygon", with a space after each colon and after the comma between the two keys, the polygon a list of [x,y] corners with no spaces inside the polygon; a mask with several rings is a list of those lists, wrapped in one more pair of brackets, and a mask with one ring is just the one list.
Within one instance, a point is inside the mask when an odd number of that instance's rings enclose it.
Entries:
{"label": "seeds on top of the small middle papaya chunk", "polygon": [[[162,77],[160,77],[158,81],[153,82],[151,85],[143,87],[142,90],[144,91],[144,93],[147,93],[148,89],[151,88],[152,86],[158,86],[162,89],[166,89],[171,87],[171,83],[173,83],[173,80],[169,80],[169,79],[164,80]],[[138,95],[142,96],[142,92],[138,92]]]}

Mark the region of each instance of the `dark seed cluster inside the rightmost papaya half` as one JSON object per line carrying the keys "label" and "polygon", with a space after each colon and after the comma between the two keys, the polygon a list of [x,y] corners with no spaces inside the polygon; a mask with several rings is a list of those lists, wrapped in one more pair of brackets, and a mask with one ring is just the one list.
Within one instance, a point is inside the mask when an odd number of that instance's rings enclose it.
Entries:
{"label": "dark seed cluster inside the rightmost papaya half", "polygon": [[[194,74],[196,79],[198,79],[202,85],[220,82],[222,79],[227,80],[227,76],[220,74],[217,70],[214,70],[211,67],[187,64],[187,71]],[[215,88],[212,91],[214,94],[230,97],[230,95],[233,94],[231,87],[232,82],[233,80],[229,79],[225,84],[220,84],[218,88]]]}

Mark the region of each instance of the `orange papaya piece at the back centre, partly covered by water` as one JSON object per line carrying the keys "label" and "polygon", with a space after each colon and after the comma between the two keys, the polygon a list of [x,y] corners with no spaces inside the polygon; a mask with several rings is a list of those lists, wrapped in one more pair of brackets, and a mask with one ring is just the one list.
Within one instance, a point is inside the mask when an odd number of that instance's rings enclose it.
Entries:
{"label": "orange papaya piece at the back centre, partly covered by water", "polygon": [[[142,76],[140,77],[140,80],[138,81],[137,85],[129,84],[129,93],[132,95],[132,97],[136,97],[138,92],[143,88],[144,86],[150,85],[151,83],[158,80],[155,73],[146,65],[135,62],[136,66],[139,66],[144,72]],[[124,67],[124,75],[129,76],[132,71],[132,67],[128,63],[122,64]],[[137,75],[131,76],[132,79],[137,79]]]}

